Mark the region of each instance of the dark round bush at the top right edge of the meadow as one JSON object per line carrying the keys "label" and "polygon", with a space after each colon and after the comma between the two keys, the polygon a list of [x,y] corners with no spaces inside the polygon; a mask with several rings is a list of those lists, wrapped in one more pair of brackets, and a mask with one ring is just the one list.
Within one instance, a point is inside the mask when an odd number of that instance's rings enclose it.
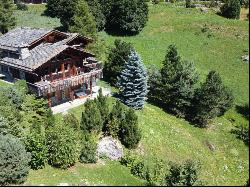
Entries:
{"label": "dark round bush at the top right edge of the meadow", "polygon": [[230,19],[239,19],[240,8],[239,0],[228,0],[220,9],[221,15]]}

